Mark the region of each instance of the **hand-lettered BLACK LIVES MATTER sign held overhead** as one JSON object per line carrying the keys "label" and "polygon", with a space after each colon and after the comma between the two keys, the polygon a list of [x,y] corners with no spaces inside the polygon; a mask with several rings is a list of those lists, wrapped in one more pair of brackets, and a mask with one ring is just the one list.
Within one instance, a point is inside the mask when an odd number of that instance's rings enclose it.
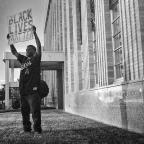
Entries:
{"label": "hand-lettered BLACK LIVES MATTER sign held overhead", "polygon": [[32,9],[27,9],[10,16],[8,19],[9,44],[33,39],[32,24]]}

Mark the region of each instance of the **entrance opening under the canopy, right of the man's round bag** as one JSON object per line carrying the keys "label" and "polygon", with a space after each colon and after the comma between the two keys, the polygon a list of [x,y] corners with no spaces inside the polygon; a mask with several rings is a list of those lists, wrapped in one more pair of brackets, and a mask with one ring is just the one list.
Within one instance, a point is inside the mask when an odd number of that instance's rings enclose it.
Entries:
{"label": "entrance opening under the canopy, right of the man's round bag", "polygon": [[49,86],[49,94],[43,99],[43,105],[56,109],[64,109],[64,72],[62,67],[43,68],[41,78]]}

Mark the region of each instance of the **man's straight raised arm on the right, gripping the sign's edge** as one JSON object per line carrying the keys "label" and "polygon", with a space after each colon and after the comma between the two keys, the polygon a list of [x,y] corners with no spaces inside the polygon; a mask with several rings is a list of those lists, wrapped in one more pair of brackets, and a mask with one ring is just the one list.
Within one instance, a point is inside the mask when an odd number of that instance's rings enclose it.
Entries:
{"label": "man's straight raised arm on the right, gripping the sign's edge", "polygon": [[33,30],[33,34],[34,34],[36,45],[37,45],[36,52],[41,57],[41,42],[40,42],[39,37],[36,33],[36,27],[32,26],[32,30]]}

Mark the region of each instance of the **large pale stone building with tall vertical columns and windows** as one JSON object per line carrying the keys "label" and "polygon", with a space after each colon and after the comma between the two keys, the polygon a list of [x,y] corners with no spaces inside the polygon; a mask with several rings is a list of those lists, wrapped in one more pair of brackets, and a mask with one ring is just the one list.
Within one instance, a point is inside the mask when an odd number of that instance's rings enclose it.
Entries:
{"label": "large pale stone building with tall vertical columns and windows", "polygon": [[44,19],[45,105],[143,133],[144,1],[45,0]]}

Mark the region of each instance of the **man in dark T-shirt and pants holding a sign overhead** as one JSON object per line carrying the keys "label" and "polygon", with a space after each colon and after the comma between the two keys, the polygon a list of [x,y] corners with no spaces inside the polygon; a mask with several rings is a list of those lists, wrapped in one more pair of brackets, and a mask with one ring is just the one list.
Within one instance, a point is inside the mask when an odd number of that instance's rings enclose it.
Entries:
{"label": "man in dark T-shirt and pants holding a sign overhead", "polygon": [[[24,132],[31,132],[32,130],[30,122],[31,112],[34,132],[41,134],[41,98],[38,93],[40,84],[41,43],[37,36],[35,26],[32,26],[32,31],[37,48],[33,45],[28,45],[26,56],[18,53],[13,44],[10,44],[10,49],[21,65],[19,90],[23,130]],[[7,35],[7,39],[10,39],[9,34]]]}

